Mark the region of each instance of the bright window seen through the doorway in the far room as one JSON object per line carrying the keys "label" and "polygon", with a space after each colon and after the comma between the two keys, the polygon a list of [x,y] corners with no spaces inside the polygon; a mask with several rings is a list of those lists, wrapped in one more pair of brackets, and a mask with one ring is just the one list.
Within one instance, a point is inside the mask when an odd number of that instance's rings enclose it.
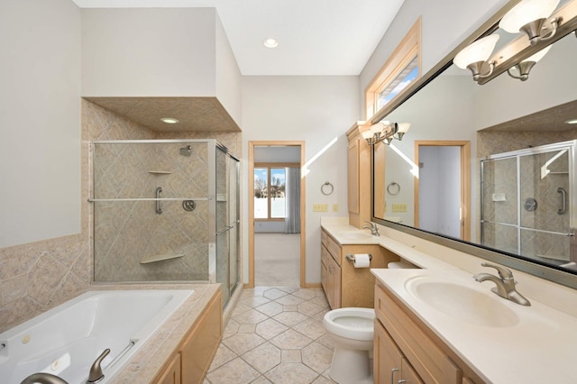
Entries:
{"label": "bright window seen through the doorway in the far room", "polygon": [[261,220],[286,217],[285,194],[287,169],[268,165],[254,167],[254,218]]}

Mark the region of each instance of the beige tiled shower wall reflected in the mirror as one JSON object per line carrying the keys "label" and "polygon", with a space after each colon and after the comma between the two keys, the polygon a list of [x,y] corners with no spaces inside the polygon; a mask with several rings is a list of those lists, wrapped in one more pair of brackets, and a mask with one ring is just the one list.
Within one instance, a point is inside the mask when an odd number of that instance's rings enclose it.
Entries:
{"label": "beige tiled shower wall reflected in the mirror", "polygon": [[[530,147],[551,144],[554,142],[567,142],[577,139],[577,135],[571,131],[554,133],[534,132],[480,132],[478,133],[478,160],[488,157],[490,154],[518,151]],[[546,231],[563,233],[569,226],[569,215],[557,215],[560,206],[560,196],[556,192],[557,187],[569,190],[568,178],[558,174],[550,174],[546,178],[540,177],[540,166],[547,159],[540,155],[529,161],[524,158],[521,162],[520,173],[522,175],[521,200],[527,197],[535,197],[538,207],[534,212],[522,210],[521,223],[517,222],[517,160],[499,160],[490,165],[486,173],[486,182],[483,190],[483,198],[486,202],[484,216],[491,222],[507,223],[542,229]],[[559,167],[566,167],[566,155],[563,159],[554,161],[549,167],[552,172],[566,171]],[[479,161],[478,161],[479,164]],[[480,168],[478,168],[480,169]],[[477,175],[480,184],[480,174]],[[493,186],[499,186],[499,190],[493,190]],[[503,194],[505,201],[492,201],[493,193]],[[480,196],[480,195],[479,195]],[[480,217],[480,216],[479,216]],[[494,224],[484,225],[484,244],[499,250],[517,253],[517,229],[513,226]],[[479,227],[481,229],[481,227]],[[480,234],[479,234],[480,235]],[[560,241],[563,240],[563,241]],[[569,242],[563,237],[550,233],[538,233],[524,230],[521,233],[521,254],[536,256],[536,258],[568,260]]]}

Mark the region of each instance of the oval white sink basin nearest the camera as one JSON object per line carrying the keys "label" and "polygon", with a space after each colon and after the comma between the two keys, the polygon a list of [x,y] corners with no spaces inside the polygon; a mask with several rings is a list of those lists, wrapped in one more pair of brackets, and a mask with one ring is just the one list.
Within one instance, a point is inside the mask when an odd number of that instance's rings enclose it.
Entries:
{"label": "oval white sink basin nearest the camera", "polygon": [[519,316],[490,290],[428,276],[408,279],[405,288],[436,311],[474,325],[509,327],[519,323]]}

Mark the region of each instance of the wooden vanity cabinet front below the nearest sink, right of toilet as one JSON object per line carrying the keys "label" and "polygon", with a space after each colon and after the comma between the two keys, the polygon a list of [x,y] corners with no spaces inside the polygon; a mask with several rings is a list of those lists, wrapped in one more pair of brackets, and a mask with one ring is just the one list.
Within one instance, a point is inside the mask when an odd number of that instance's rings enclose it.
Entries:
{"label": "wooden vanity cabinet front below the nearest sink, right of toilet", "polygon": [[375,383],[399,382],[398,380],[409,377],[412,381],[408,382],[483,382],[380,282],[375,285],[373,352]]}

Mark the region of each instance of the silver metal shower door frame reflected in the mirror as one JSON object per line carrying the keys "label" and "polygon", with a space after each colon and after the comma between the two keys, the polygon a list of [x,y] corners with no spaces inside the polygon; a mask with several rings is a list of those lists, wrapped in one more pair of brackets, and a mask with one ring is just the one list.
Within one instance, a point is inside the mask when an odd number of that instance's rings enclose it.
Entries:
{"label": "silver metal shower door frame reflected in the mirror", "polygon": [[[577,189],[575,183],[577,182],[577,178],[574,176],[574,172],[577,169],[575,167],[575,151],[577,149],[577,140],[571,140],[567,142],[555,142],[553,144],[545,144],[539,145],[533,148],[527,148],[523,150],[517,151],[508,151],[498,154],[493,154],[487,157],[486,159],[481,160],[481,196],[480,196],[480,235],[481,235],[481,244],[484,240],[484,216],[483,216],[483,206],[485,206],[484,201],[484,193],[483,193],[483,186],[484,186],[484,162],[487,160],[504,160],[504,159],[512,159],[515,158],[517,161],[517,254],[523,256],[521,253],[521,226],[520,222],[520,212],[521,212],[521,194],[520,194],[520,158],[522,156],[531,156],[537,154],[543,154],[552,151],[562,151],[567,150],[568,156],[568,185],[569,191],[567,193],[568,201],[567,206],[569,206],[569,225],[568,225],[568,233],[565,233],[569,239],[569,261],[567,262],[577,262],[577,241],[575,239],[575,225],[577,224]],[[530,228],[528,228],[530,229]],[[550,231],[540,231],[536,229],[531,229],[537,232],[544,232],[550,233]],[[563,233],[558,233],[563,234]],[[529,256],[525,256],[530,258]]]}

